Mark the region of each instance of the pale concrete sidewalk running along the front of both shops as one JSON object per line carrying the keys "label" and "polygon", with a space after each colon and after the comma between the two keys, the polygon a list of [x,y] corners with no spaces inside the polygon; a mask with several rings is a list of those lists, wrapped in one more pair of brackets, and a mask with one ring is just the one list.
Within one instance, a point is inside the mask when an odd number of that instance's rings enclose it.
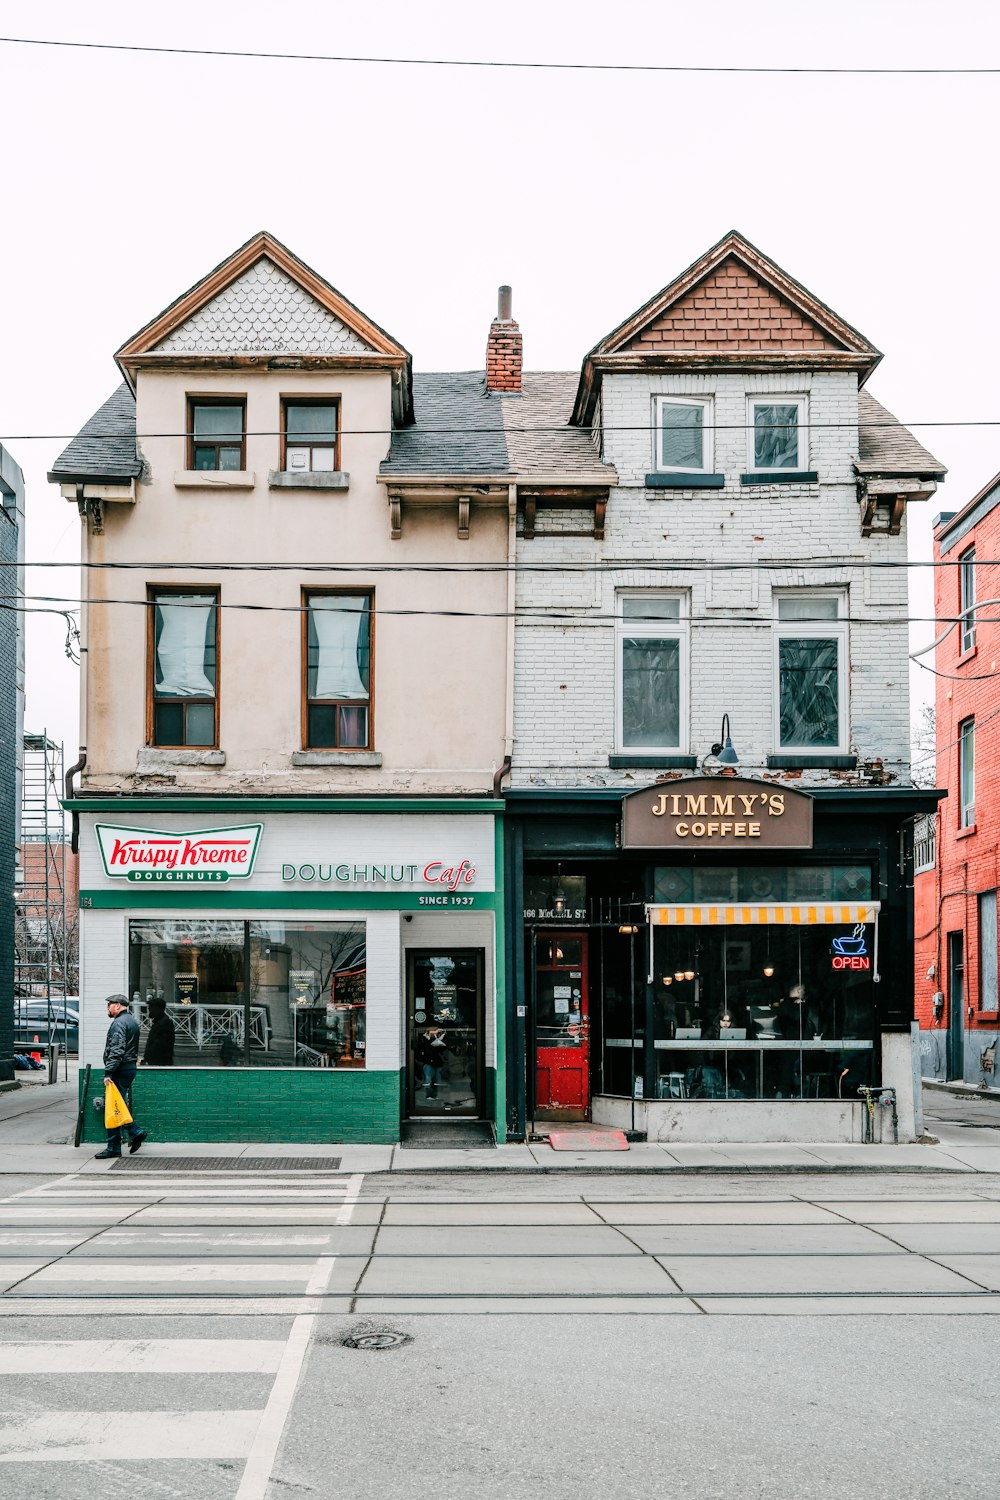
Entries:
{"label": "pale concrete sidewalk running along the front of both shops", "polygon": [[[981,1095],[982,1096],[982,1095]],[[1000,1104],[997,1126],[961,1125],[930,1120],[936,1142],[910,1146],[862,1146],[832,1143],[727,1143],[720,1146],[685,1143],[633,1143],[627,1152],[553,1150],[547,1143],[480,1148],[475,1150],[427,1150],[412,1146],[325,1146],[274,1144],[261,1142],[171,1143],[147,1142],[142,1160],[177,1156],[282,1158],[339,1156],[339,1172],[364,1173],[441,1173],[441,1172],[517,1172],[564,1173],[913,1173],[948,1172],[957,1174],[1000,1173]],[[94,1161],[94,1146],[79,1149],[63,1144],[72,1140],[76,1119],[76,1084],[30,1083],[0,1095],[0,1176],[60,1176],[106,1173],[108,1161]],[[57,1143],[58,1142],[58,1143]],[[169,1168],[168,1168],[169,1170]],[[141,1180],[139,1174],[132,1180]],[[252,1179],[249,1179],[252,1180]]]}

